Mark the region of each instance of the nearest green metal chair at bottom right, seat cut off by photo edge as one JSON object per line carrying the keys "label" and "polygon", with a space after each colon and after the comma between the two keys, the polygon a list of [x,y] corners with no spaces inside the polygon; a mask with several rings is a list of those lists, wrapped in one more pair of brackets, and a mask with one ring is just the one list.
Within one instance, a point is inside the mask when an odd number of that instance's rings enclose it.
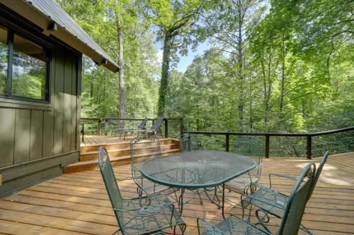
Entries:
{"label": "nearest green metal chair at bottom right, seat cut off by photo edge", "polygon": [[[307,198],[309,198],[311,192],[315,169],[316,165],[309,163],[297,178],[285,205],[282,222],[276,232],[277,235],[295,235],[299,231]],[[227,217],[216,225],[210,224],[205,219],[198,218],[198,233],[202,235],[272,234],[265,224],[269,220],[268,214],[262,209],[258,209],[256,211],[256,218],[258,219],[258,223],[262,225],[262,229],[235,215]]]}

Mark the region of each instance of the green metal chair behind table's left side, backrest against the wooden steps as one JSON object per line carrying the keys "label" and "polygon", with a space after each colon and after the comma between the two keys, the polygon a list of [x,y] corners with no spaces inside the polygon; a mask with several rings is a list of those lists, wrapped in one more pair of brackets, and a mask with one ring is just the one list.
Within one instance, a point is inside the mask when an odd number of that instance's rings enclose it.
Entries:
{"label": "green metal chair behind table's left side, backrest against the wooden steps", "polygon": [[154,135],[141,135],[130,140],[130,168],[132,170],[132,178],[137,185],[137,193],[139,196],[142,196],[143,193],[150,195],[161,191],[168,194],[176,193],[174,188],[163,186],[145,179],[140,173],[139,162],[137,162],[137,158],[139,157],[161,157],[159,139]]}

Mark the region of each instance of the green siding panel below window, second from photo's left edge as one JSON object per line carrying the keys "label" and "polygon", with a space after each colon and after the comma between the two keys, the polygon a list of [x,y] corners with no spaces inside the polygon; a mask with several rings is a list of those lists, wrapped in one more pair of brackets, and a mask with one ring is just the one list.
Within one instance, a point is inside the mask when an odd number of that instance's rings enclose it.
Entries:
{"label": "green siding panel below window, second from photo's left edge", "polygon": [[30,160],[30,109],[16,109],[15,164]]}

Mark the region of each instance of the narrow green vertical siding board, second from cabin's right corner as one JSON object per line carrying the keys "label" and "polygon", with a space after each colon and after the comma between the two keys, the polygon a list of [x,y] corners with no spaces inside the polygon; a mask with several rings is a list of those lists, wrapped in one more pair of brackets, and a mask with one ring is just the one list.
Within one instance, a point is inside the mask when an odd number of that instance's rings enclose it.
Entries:
{"label": "narrow green vertical siding board, second from cabin's right corner", "polygon": [[72,56],[70,51],[65,53],[63,152],[70,152],[72,142]]}

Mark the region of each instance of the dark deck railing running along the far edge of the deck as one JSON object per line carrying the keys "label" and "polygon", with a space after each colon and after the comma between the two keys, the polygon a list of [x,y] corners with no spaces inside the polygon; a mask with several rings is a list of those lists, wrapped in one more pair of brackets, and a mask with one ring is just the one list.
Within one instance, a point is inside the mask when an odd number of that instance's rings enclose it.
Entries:
{"label": "dark deck railing running along the far edge of the deck", "polygon": [[[156,119],[149,119],[154,123]],[[119,118],[81,118],[81,123],[85,123],[84,133],[95,135],[110,135],[118,128],[118,121],[125,121],[125,128],[136,128],[142,119],[119,119]],[[152,126],[148,123],[147,126]],[[187,131],[184,129],[183,118],[166,118],[161,126],[164,137],[178,138],[182,133],[193,133],[195,135],[224,136],[224,140],[217,139],[219,143],[217,150],[229,152],[231,137],[237,135],[253,136],[264,138],[265,157],[270,157],[270,152],[275,156],[283,156],[284,152],[292,156],[320,156],[322,151],[330,148],[331,152],[343,152],[354,150],[354,126],[339,128],[330,131],[314,133],[244,133],[244,132],[224,132],[224,131]],[[336,135],[337,134],[337,135]],[[340,136],[339,136],[340,135]],[[318,137],[314,139],[314,137]],[[286,141],[285,141],[286,140]],[[202,145],[210,143],[204,143]],[[334,147],[333,147],[334,146]],[[277,150],[277,148],[279,150]],[[332,149],[331,149],[332,148]]]}

